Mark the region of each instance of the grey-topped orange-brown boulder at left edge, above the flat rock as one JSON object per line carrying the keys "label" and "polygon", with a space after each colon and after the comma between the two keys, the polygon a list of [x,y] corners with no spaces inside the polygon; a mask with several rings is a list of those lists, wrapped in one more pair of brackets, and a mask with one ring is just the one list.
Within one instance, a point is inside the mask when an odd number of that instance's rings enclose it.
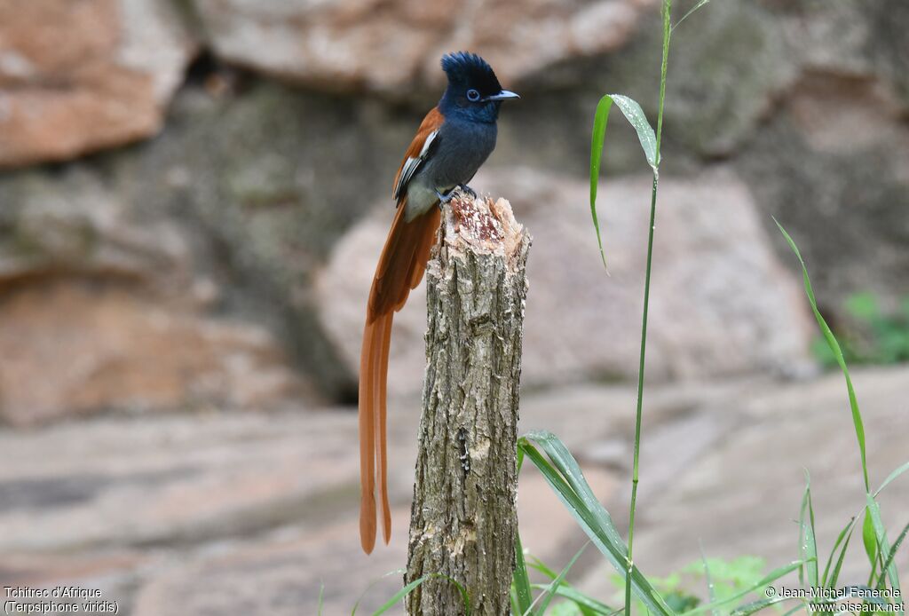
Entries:
{"label": "grey-topped orange-brown boulder at left edge, above the flat rock", "polygon": [[105,410],[274,405],[309,391],[220,289],[174,219],[92,171],[6,178],[0,210],[0,421]]}

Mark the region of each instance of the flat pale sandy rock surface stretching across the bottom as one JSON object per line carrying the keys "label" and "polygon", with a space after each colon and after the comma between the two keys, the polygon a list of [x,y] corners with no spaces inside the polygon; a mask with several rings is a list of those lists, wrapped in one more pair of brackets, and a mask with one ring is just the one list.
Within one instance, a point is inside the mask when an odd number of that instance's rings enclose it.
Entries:
{"label": "flat pale sandy rock surface stretching across the bottom", "polygon": [[[905,462],[909,371],[858,371],[872,482]],[[651,388],[645,398],[635,561],[665,575],[700,558],[754,554],[768,569],[795,557],[804,472],[812,474],[819,541],[864,502],[842,378],[764,379]],[[394,532],[367,558],[357,535],[352,409],[99,418],[0,431],[0,583],[101,588],[120,613],[196,616],[349,611],[400,588],[382,576],[405,561],[418,408],[389,409]],[[585,385],[524,394],[521,431],[559,434],[624,532],[634,389]],[[537,472],[518,491],[524,546],[555,568],[584,535]],[[909,484],[882,498],[904,524]],[[669,546],[669,547],[667,547]],[[854,546],[844,575],[861,566]],[[902,559],[902,560],[900,560]],[[898,559],[909,565],[905,553]],[[591,548],[573,571],[604,601],[612,587]],[[695,591],[703,586],[698,583]]]}

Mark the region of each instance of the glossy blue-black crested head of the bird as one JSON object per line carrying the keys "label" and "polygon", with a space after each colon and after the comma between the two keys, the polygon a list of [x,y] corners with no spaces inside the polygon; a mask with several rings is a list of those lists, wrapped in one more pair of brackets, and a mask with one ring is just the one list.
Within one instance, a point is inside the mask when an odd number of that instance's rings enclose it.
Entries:
{"label": "glossy blue-black crested head of the bird", "polygon": [[493,67],[479,55],[469,52],[444,55],[442,70],[448,76],[448,87],[439,101],[439,110],[445,116],[494,123],[502,101],[518,97],[502,89]]}

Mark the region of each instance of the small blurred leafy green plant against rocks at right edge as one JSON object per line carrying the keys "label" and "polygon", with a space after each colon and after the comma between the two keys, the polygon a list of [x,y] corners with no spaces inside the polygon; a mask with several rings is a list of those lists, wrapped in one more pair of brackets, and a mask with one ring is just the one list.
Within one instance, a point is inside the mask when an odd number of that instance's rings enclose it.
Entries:
{"label": "small blurred leafy green plant against rocks at right edge", "polygon": [[[844,301],[843,310],[847,320],[835,330],[847,362],[909,362],[909,297],[903,298],[897,310],[886,312],[874,293],[854,293]],[[814,340],[812,351],[824,366],[836,366],[823,338]]]}

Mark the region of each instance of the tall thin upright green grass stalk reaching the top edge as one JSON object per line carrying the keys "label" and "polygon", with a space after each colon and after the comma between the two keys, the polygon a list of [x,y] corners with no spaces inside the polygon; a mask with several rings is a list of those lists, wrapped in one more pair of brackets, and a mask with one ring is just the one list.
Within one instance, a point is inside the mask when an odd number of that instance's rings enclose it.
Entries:
{"label": "tall thin upright green grass stalk reaching the top edge", "polygon": [[631,479],[631,507],[628,514],[628,572],[625,576],[625,616],[631,616],[631,569],[634,564],[634,512],[637,506],[637,484],[641,454],[641,416],[644,411],[644,367],[647,353],[647,317],[650,309],[650,272],[654,260],[656,230],[656,191],[660,184],[660,138],[663,134],[663,105],[666,96],[666,65],[669,62],[669,38],[672,35],[672,0],[663,2],[663,62],[660,65],[660,103],[656,115],[656,153],[654,187],[650,193],[650,226],[647,228],[647,265],[644,272],[644,312],[641,318],[641,358],[637,372],[637,405],[634,414],[634,464]]}

